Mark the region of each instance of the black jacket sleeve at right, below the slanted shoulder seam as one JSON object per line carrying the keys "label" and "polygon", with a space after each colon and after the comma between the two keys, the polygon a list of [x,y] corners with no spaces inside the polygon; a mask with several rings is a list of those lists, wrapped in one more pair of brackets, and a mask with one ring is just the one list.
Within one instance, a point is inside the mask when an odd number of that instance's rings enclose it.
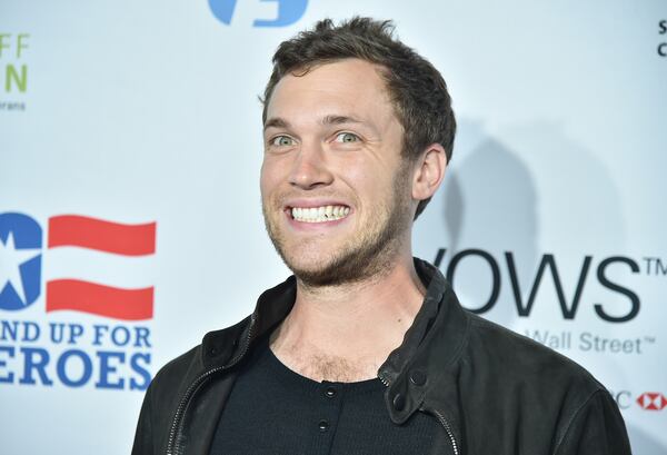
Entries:
{"label": "black jacket sleeve at right, below the slanted shoulder seam", "polygon": [[558,442],[555,455],[630,455],[630,443],[618,406],[605,389],[579,407]]}

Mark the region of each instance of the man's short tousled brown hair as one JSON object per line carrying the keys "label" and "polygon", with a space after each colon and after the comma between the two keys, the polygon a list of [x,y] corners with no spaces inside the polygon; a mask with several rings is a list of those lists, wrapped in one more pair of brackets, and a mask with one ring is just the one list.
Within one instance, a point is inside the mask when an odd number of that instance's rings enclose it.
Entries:
{"label": "man's short tousled brown hair", "polygon": [[[355,17],[335,26],[325,19],[312,30],[302,31],[283,41],[273,55],[273,71],[263,95],[262,122],[278,81],[295,71],[308,72],[312,67],[346,58],[358,58],[379,65],[394,102],[404,135],[402,154],[417,159],[430,144],[440,144],[447,160],[456,132],[451,98],[440,72],[424,57],[394,38],[389,20]],[[429,199],[417,206],[415,218]]]}

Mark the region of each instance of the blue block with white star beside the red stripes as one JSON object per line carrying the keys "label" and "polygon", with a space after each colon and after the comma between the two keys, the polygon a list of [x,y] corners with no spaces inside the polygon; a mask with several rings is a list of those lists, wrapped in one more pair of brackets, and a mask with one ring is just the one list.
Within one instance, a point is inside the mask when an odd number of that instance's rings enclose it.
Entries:
{"label": "blue block with white star beside the red stripes", "polygon": [[32,305],[41,286],[42,229],[23,214],[0,214],[0,309]]}

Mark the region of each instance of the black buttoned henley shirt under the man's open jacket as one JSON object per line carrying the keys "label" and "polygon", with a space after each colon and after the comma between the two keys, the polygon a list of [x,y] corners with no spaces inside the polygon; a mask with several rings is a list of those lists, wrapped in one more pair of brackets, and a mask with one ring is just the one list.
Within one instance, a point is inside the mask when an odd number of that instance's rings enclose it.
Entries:
{"label": "black buttoned henley shirt under the man's open jacket", "polygon": [[268,339],[240,366],[211,455],[409,455],[429,452],[435,418],[389,419],[379,379],[318,383],[287,368]]}

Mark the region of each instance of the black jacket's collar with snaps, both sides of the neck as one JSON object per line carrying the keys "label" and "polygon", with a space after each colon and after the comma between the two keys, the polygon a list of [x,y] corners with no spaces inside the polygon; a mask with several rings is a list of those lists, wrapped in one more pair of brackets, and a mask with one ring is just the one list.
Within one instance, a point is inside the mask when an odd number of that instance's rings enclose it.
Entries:
{"label": "black jacket's collar with snaps, both sides of the neck", "polygon": [[[378,369],[387,385],[385,398],[391,419],[405,423],[417,409],[438,412],[458,433],[456,360],[467,340],[469,316],[461,308],[440,270],[415,258],[415,268],[427,287],[421,308],[402,344]],[[251,316],[236,326],[207,334],[202,342],[206,368],[230,367],[250,349],[253,340],[277,327],[291,310],[297,295],[293,276],[266,290]],[[436,405],[450,403],[444,409]]]}

